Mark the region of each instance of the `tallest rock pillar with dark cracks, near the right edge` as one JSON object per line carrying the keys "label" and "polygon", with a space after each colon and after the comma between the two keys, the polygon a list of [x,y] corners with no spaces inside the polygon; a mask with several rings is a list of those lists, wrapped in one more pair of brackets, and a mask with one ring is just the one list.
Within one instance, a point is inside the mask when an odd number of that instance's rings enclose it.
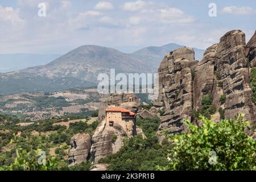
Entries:
{"label": "tallest rock pillar with dark cracks, near the right edge", "polygon": [[226,94],[225,118],[243,113],[246,119],[254,121],[255,106],[250,97],[250,74],[246,63],[245,34],[242,31],[233,30],[222,36],[216,52],[216,67]]}

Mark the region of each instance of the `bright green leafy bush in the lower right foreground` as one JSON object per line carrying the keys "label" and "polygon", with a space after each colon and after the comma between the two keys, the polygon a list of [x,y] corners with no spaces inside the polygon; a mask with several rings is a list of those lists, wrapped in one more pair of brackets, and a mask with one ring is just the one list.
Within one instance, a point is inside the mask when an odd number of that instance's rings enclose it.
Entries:
{"label": "bright green leafy bush in the lower right foreground", "polygon": [[201,127],[185,121],[190,133],[171,137],[170,162],[160,169],[256,170],[256,143],[244,132],[249,122],[241,116],[218,124],[200,116]]}

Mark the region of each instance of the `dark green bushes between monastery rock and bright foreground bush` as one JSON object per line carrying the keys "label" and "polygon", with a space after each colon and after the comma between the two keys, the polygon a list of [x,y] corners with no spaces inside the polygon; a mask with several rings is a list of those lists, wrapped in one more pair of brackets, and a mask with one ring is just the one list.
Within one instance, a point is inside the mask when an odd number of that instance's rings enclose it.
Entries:
{"label": "dark green bushes between monastery rock and bright foreground bush", "polygon": [[126,138],[117,153],[106,156],[100,163],[109,164],[110,171],[153,171],[158,165],[167,166],[168,147],[161,146],[155,135],[146,139],[136,135]]}

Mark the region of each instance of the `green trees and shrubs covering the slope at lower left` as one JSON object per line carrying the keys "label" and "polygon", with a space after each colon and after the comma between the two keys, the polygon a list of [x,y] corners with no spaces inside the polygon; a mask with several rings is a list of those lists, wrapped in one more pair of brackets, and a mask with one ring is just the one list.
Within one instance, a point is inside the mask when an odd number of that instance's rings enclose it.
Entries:
{"label": "green trees and shrubs covering the slope at lower left", "polygon": [[[87,118],[85,122],[70,123],[69,128],[53,125],[62,120],[60,118],[44,119],[43,121],[35,121],[34,124],[29,126],[18,126],[16,124],[24,122],[23,119],[14,119],[8,115],[0,114],[0,170],[88,171],[91,161],[68,167],[69,140],[77,133],[93,134],[99,122],[94,121],[89,125],[86,123],[86,121],[89,121],[89,118]],[[16,137],[19,131],[22,131],[22,134]],[[38,134],[33,134],[35,131]],[[52,158],[50,151],[54,149],[55,156]],[[46,154],[45,165],[37,163],[40,158],[38,156],[39,150]]]}

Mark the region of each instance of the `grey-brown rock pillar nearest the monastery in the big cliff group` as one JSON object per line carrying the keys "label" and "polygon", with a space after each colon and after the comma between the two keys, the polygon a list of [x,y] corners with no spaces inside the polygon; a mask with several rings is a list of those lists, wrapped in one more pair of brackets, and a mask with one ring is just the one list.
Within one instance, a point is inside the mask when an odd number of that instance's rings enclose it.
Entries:
{"label": "grey-brown rock pillar nearest the monastery in the big cliff group", "polygon": [[159,72],[159,99],[156,107],[164,106],[160,129],[174,132],[183,130],[180,121],[192,115],[192,69],[195,68],[195,52],[180,48],[164,57]]}

